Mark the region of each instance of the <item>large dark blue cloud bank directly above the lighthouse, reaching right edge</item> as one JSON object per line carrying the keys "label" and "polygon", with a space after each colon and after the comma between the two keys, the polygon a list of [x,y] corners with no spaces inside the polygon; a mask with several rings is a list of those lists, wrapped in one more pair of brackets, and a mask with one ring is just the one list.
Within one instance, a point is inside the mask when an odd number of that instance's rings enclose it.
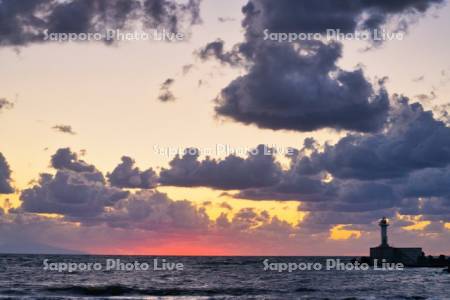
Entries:
{"label": "large dark blue cloud bank directly above the lighthouse, reaching right edge", "polygon": [[325,227],[355,224],[354,214],[370,215],[369,220],[396,213],[448,220],[450,128],[405,97],[392,102],[383,132],[349,134],[325,147],[307,138],[278,182],[233,196],[300,201],[300,210]]}

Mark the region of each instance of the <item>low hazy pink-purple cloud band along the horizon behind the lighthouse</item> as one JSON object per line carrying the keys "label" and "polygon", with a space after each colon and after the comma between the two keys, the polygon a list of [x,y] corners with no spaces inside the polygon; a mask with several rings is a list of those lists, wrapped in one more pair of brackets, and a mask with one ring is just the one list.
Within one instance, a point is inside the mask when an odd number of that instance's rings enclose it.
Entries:
{"label": "low hazy pink-purple cloud band along the horizon behind the lighthouse", "polygon": [[[320,223],[326,222],[327,218],[336,222],[354,223],[344,228],[363,230],[360,238],[352,239],[350,248],[348,242],[329,239],[329,229],[333,226]],[[87,226],[67,221],[61,222],[60,219],[36,214],[14,212],[0,215],[0,235],[2,236],[0,252],[4,252],[3,249],[6,251],[13,249],[19,253],[39,251],[76,253],[75,250],[67,250],[76,249],[84,253],[115,255],[186,255],[190,253],[192,255],[341,254],[358,256],[367,251],[368,245],[375,246],[379,243],[379,228],[375,221],[378,218],[379,216],[371,214],[355,213],[342,218],[338,214],[324,213],[314,218],[308,215],[301,223],[301,227],[295,227],[276,217],[268,217],[267,212],[247,208],[233,216],[222,214],[217,220],[210,220],[207,230],[202,225],[194,225],[189,230],[183,230],[182,227],[172,227],[170,222],[153,223],[154,226],[150,222],[152,225],[147,227],[145,223],[141,223],[146,229],[131,226],[110,227],[106,224]],[[146,218],[141,221],[144,219]],[[368,219],[373,222],[367,224]],[[406,231],[401,228],[405,222],[395,217],[390,221],[391,241],[414,245],[420,239],[427,254],[445,253],[448,250],[445,241],[449,239],[450,231],[444,229],[442,223],[432,222],[425,231]],[[173,226],[176,225],[173,224]],[[439,238],[428,233],[438,233]]]}

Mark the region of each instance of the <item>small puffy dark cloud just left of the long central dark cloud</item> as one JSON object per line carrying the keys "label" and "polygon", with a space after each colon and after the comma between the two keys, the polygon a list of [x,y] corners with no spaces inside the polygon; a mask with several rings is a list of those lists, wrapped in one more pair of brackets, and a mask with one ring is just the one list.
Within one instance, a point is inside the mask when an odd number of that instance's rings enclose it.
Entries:
{"label": "small puffy dark cloud just left of the long central dark cloud", "polygon": [[122,163],[106,176],[112,186],[119,188],[152,189],[158,183],[158,176],[153,169],[139,170],[128,156],[123,156]]}

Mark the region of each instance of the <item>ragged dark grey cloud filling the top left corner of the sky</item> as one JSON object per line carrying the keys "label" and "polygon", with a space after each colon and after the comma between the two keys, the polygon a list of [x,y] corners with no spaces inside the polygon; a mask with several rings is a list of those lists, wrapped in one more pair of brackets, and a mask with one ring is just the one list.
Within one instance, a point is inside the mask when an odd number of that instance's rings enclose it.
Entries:
{"label": "ragged dark grey cloud filling the top left corner of the sky", "polygon": [[199,23],[197,0],[2,0],[0,45],[42,42],[49,33],[94,33],[127,29],[135,22],[147,28],[184,30]]}

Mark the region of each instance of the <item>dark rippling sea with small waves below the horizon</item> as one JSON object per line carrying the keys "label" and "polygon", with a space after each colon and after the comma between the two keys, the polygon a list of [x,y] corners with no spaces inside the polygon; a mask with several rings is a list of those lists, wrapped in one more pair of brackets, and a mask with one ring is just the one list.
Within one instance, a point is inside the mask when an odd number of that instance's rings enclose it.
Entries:
{"label": "dark rippling sea with small waves below the horizon", "polygon": [[349,264],[350,257],[0,254],[0,299],[450,299],[442,268]]}

